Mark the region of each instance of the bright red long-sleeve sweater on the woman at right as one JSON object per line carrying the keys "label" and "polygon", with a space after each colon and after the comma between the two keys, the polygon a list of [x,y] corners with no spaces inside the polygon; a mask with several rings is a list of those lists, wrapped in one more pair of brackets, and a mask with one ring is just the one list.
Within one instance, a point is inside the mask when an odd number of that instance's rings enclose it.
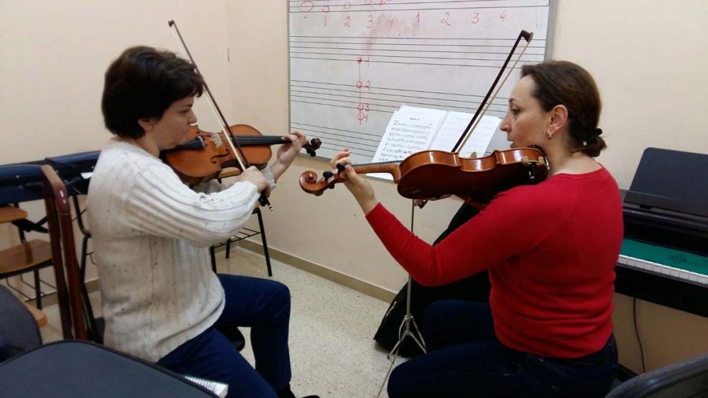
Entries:
{"label": "bright red long-sleeve sweater on the woman at right", "polygon": [[604,168],[500,193],[434,247],[381,204],[366,218],[418,283],[442,285],[488,269],[494,330],[510,348],[578,358],[612,333],[622,201]]}

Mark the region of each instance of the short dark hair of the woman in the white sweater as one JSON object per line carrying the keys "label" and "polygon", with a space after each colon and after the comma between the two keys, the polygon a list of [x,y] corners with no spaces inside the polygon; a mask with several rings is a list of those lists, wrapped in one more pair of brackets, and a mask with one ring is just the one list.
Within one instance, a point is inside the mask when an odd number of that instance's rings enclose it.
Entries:
{"label": "short dark hair of the woman in the white sweater", "polygon": [[130,47],[105,72],[103,123],[120,137],[142,137],[139,119],[160,119],[175,101],[201,96],[203,85],[194,65],[173,52]]}

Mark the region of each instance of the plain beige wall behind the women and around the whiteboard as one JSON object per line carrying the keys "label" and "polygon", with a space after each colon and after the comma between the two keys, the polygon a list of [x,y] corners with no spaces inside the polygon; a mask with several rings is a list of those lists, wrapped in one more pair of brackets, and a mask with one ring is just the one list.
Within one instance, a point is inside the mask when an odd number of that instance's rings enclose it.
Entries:
{"label": "plain beige wall behind the women and around the whiteboard", "polygon": [[[108,139],[99,108],[106,65],[127,45],[175,49],[166,27],[171,18],[229,122],[251,124],[265,135],[288,129],[285,1],[0,0],[0,7],[0,120],[6,127],[0,163],[100,148]],[[646,147],[708,152],[699,127],[708,88],[701,73],[708,70],[702,51],[707,15],[704,0],[556,1],[552,57],[582,64],[598,81],[610,146],[600,161],[622,188]],[[202,105],[200,125],[214,128]],[[313,197],[297,186],[302,171],[325,168],[321,159],[301,157],[282,178],[271,200],[275,210],[264,212],[270,246],[398,290],[406,274],[346,190]],[[392,183],[373,184],[379,199],[409,224],[409,201]],[[433,241],[457,207],[452,199],[430,203],[416,214],[416,233]],[[10,230],[0,229],[0,239],[12,241]],[[639,370],[631,300],[618,295],[615,302],[622,362]],[[649,368],[708,351],[700,339],[708,334],[707,319],[640,302],[638,320]],[[687,335],[677,336],[678,330]]]}

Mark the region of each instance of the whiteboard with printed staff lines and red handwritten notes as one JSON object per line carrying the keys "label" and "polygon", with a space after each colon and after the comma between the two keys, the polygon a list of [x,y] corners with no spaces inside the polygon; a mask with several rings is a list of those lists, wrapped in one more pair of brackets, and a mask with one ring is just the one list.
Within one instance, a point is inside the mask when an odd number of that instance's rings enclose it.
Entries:
{"label": "whiteboard with printed staff lines and red handwritten notes", "polygon": [[[349,147],[370,161],[401,105],[474,113],[521,30],[534,36],[516,69],[542,62],[551,11],[551,0],[291,0],[290,127],[322,140],[319,157]],[[503,118],[515,81],[489,115]]]}

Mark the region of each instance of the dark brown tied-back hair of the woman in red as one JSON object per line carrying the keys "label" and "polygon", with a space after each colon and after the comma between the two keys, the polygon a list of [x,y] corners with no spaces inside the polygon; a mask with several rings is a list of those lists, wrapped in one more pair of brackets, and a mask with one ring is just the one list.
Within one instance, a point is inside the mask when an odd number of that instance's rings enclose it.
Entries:
{"label": "dark brown tied-back hair of the woman in red", "polygon": [[531,76],[532,93],[547,112],[556,105],[568,108],[568,124],[573,152],[597,157],[607,147],[598,129],[603,103],[593,76],[568,61],[546,61],[524,65],[521,76]]}

